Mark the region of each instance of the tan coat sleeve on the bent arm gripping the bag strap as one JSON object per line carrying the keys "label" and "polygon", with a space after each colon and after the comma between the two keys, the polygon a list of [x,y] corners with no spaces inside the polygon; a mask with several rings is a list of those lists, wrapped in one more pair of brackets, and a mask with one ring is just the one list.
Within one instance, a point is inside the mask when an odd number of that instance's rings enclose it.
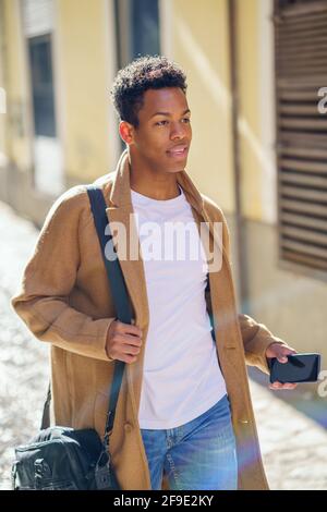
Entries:
{"label": "tan coat sleeve on the bent arm gripping the bag strap", "polygon": [[69,305],[80,265],[81,197],[76,188],[62,194],[50,208],[20,290],[10,302],[38,340],[80,355],[113,361],[107,355],[106,341],[114,318],[95,319]]}

